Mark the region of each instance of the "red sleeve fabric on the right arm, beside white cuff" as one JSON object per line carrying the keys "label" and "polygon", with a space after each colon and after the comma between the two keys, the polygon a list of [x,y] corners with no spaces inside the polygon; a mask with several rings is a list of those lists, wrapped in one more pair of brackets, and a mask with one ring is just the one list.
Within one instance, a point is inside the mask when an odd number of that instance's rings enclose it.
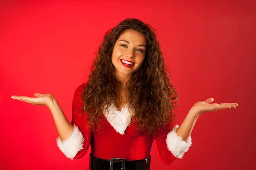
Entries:
{"label": "red sleeve fabric on the right arm, beside white cuff", "polygon": [[171,130],[171,125],[166,125],[163,130],[157,130],[157,133],[153,135],[153,144],[157,156],[164,164],[171,164],[172,161],[176,159],[176,157],[169,151],[166,143],[167,134]]}

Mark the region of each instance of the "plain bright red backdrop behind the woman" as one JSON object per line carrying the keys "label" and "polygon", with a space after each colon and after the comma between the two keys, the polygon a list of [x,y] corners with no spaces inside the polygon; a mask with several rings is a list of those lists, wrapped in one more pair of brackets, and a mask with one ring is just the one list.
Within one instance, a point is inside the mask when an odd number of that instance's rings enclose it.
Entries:
{"label": "plain bright red backdrop behind the woman", "polygon": [[90,149],[66,158],[46,106],[10,97],[53,94],[71,121],[73,93],[103,35],[127,17],[157,29],[180,98],[177,124],[197,101],[239,103],[200,116],[183,159],[165,165],[152,147],[151,170],[255,169],[255,8],[239,0],[1,2],[0,169],[87,169]]}

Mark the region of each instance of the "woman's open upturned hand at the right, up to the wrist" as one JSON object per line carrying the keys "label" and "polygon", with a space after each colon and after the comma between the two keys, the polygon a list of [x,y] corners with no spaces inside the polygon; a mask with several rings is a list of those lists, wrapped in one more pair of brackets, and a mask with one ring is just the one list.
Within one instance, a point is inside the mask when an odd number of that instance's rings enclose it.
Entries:
{"label": "woman's open upturned hand at the right, up to the wrist", "polygon": [[214,100],[213,98],[209,98],[204,102],[196,102],[195,105],[192,107],[192,109],[195,111],[195,113],[198,114],[198,116],[200,116],[205,112],[218,111],[218,110],[228,109],[228,108],[236,108],[236,106],[238,106],[237,103],[210,104],[213,100]]}

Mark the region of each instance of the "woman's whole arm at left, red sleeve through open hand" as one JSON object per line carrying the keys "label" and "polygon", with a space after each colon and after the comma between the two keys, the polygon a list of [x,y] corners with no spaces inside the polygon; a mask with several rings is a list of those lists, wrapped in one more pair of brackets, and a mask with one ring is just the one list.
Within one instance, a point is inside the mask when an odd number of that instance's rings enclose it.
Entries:
{"label": "woman's whole arm at left, red sleeve through open hand", "polygon": [[86,123],[86,116],[83,111],[83,101],[81,93],[85,84],[79,85],[73,96],[72,102],[72,121],[67,120],[58,101],[52,94],[35,93],[35,97],[12,96],[12,99],[18,99],[32,105],[47,106],[53,116],[55,126],[59,137],[57,145],[60,150],[70,159],[79,159],[87,152],[91,140],[91,132]]}

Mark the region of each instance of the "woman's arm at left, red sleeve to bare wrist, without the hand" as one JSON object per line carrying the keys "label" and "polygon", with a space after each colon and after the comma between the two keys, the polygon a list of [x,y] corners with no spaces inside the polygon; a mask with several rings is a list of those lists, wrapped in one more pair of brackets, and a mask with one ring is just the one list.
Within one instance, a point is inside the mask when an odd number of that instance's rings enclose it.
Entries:
{"label": "woman's arm at left, red sleeve to bare wrist, without the hand", "polygon": [[[80,88],[78,88],[80,91]],[[49,104],[55,126],[58,131],[57,145],[70,159],[79,159],[84,156],[90,145],[90,131],[85,126],[85,116],[80,109],[80,92],[76,89],[72,104],[72,121],[67,120],[57,100]]]}

